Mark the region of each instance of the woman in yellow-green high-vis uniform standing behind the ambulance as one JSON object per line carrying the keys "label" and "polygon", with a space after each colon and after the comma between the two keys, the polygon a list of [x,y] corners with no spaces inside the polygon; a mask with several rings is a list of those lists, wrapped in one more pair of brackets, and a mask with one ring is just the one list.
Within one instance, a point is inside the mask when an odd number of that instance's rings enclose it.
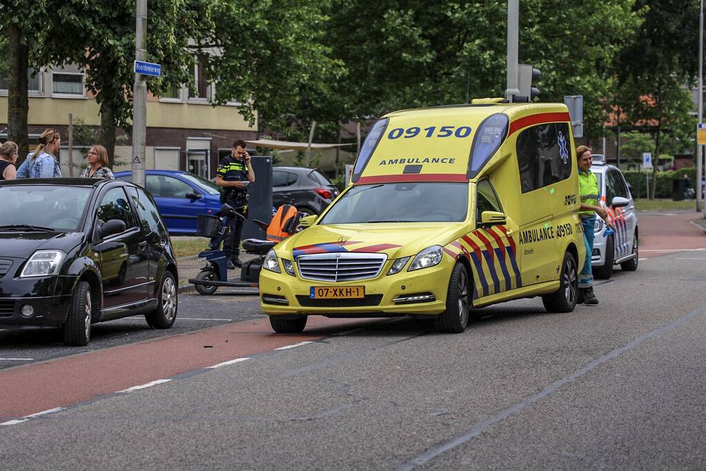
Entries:
{"label": "woman in yellow-green high-vis uniform standing behind the ambulance", "polygon": [[606,226],[613,227],[613,223],[608,219],[608,213],[601,207],[599,200],[601,193],[598,188],[598,179],[591,171],[592,157],[590,147],[580,145],[576,147],[576,159],[578,159],[578,183],[581,207],[579,216],[583,226],[583,240],[586,245],[586,260],[583,269],[578,276],[578,299],[587,305],[597,305],[598,298],[593,293],[593,271],[591,267],[591,257],[593,254],[594,228],[596,226],[596,214],[606,221]]}

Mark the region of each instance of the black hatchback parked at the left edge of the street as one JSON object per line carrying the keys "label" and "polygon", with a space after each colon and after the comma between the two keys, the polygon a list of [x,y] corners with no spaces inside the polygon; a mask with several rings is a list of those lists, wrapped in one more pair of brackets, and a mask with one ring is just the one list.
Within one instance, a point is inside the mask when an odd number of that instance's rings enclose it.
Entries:
{"label": "black hatchback parked at the left edge of the street", "polygon": [[177,262],[154,200],[116,180],[0,183],[0,329],[61,326],[86,345],[91,324],[177,317]]}

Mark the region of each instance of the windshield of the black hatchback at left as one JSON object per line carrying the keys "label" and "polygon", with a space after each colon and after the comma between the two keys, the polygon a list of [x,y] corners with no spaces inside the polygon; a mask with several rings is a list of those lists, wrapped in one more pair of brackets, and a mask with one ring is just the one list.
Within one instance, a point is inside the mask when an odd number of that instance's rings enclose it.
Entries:
{"label": "windshield of the black hatchback at left", "polygon": [[[0,230],[78,231],[92,190],[59,185],[0,186]],[[18,226],[11,228],[10,226]]]}

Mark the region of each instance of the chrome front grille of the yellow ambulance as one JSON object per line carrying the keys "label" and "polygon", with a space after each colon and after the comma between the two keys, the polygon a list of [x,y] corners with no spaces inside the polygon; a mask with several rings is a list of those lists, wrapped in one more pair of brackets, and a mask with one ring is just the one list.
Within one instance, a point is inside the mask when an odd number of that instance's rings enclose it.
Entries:
{"label": "chrome front grille of the yellow ambulance", "polygon": [[301,255],[297,264],[303,279],[345,283],[375,278],[387,259],[385,254],[342,252]]}

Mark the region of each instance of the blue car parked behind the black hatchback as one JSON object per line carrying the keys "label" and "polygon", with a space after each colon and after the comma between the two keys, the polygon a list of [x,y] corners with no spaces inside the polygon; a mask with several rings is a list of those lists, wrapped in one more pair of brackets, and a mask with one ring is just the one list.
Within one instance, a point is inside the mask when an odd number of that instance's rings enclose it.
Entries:
{"label": "blue car parked behind the black hatchback", "polygon": [[[131,171],[118,172],[115,178],[130,181]],[[177,170],[145,170],[148,192],[157,203],[171,236],[193,236],[198,214],[216,214],[220,191],[215,183],[198,175]]]}

